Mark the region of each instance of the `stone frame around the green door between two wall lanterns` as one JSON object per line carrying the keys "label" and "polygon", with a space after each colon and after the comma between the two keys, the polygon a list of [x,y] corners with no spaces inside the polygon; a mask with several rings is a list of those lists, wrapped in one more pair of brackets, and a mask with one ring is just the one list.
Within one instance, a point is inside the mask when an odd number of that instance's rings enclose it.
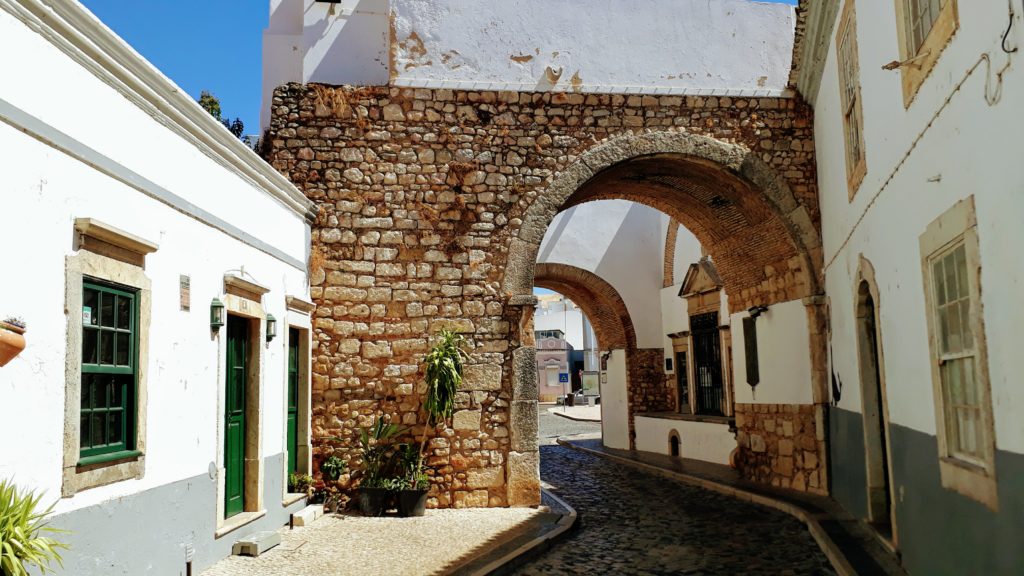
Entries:
{"label": "stone frame around the green door between two wall lanterns", "polygon": [[[263,351],[269,346],[266,341],[266,311],[262,297],[269,288],[233,274],[224,275],[224,293],[219,297],[226,314],[249,321],[249,372],[246,383],[246,446],[245,446],[245,488],[244,507],[241,513],[224,517],[224,395],[226,374],[224,363],[227,358],[227,337],[225,329],[217,332],[217,522],[215,538],[259,520],[266,515],[263,501],[264,465],[262,443],[262,401]],[[225,324],[226,326],[226,324]]]}

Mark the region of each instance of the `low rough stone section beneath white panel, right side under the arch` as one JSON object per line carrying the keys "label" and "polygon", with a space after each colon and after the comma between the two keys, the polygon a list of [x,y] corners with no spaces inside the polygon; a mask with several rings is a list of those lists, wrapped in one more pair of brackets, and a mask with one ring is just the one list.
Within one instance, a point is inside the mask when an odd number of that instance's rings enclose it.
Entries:
{"label": "low rough stone section beneath white panel, right side under the arch", "polygon": [[736,442],[743,478],[815,494],[827,493],[824,430],[815,406],[737,404]]}

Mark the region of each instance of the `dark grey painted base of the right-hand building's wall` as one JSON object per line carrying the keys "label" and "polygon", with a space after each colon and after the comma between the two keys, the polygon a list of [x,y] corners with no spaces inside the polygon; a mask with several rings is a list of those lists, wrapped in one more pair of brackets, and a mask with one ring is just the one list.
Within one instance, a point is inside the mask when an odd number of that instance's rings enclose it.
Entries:
{"label": "dark grey painted base of the right-hand building's wall", "polygon": [[[833,497],[867,509],[860,414],[829,410]],[[997,451],[999,510],[942,487],[938,440],[890,425],[893,499],[903,566],[913,576],[1024,574],[1024,455]]]}

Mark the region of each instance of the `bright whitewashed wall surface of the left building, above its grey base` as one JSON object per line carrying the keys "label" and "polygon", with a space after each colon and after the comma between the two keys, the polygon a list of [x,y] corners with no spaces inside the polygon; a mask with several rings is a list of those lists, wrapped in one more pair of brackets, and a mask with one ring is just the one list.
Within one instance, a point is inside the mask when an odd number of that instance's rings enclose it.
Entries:
{"label": "bright whitewashed wall surface of the left building, above its grey base", "polygon": [[[0,51],[32,56],[6,58],[0,77],[0,108],[7,118],[0,122],[0,150],[7,160],[0,183],[5,247],[0,316],[22,316],[29,324],[27,348],[0,369],[0,437],[19,439],[0,444],[0,478],[13,477],[47,501],[60,495],[69,385],[65,258],[73,253],[77,217],[95,218],[160,246],[145,266],[153,281],[146,461],[143,478],[85,490],[60,500],[56,511],[206,475],[211,462],[220,462],[223,419],[218,398],[223,359],[211,338],[210,301],[222,294],[224,273],[245,266],[271,288],[264,298],[267,312],[285,318],[286,294],[308,293],[303,264],[308,225],[5,11],[0,11]],[[62,135],[53,136],[54,146],[40,141],[10,125],[15,113]],[[141,176],[147,182],[136,178],[136,184],[176,195],[191,209],[151,198],[59,147],[101,155],[119,177]],[[259,162],[254,155],[250,161]],[[204,223],[187,213],[194,210],[215,214],[216,221]],[[216,227],[258,237],[276,255]],[[190,312],[179,310],[182,274],[191,278]],[[284,394],[279,394],[285,362],[279,336],[263,352],[263,456],[285,450]]]}

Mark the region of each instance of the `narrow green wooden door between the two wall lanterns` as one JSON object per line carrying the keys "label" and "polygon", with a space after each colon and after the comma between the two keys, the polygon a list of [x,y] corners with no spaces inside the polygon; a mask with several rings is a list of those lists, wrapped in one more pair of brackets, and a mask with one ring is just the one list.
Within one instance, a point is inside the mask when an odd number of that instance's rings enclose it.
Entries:
{"label": "narrow green wooden door between the two wall lanterns", "polygon": [[224,517],[245,509],[246,486],[246,362],[249,325],[227,317],[227,386],[224,411]]}

